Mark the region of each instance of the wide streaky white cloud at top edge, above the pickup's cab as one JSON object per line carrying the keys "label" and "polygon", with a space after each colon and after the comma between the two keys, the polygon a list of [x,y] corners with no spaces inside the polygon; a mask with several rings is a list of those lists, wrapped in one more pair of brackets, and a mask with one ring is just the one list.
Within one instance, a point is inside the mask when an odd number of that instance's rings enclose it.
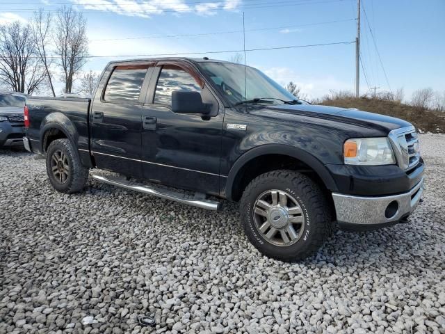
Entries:
{"label": "wide streaky white cloud at top edge, above the pickup's cab", "polygon": [[185,0],[72,0],[75,5],[88,10],[111,11],[120,15],[151,17],[165,12],[196,13],[198,15],[215,15],[217,9],[234,10],[241,0],[225,0],[223,2],[202,2],[189,6]]}

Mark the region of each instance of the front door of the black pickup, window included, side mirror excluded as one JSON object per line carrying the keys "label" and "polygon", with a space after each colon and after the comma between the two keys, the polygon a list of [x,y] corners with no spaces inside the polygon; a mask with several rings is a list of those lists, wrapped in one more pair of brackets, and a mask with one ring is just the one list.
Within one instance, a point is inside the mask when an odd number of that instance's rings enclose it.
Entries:
{"label": "front door of the black pickup, window included, side mirror excluded", "polygon": [[[201,93],[213,116],[173,113],[172,91]],[[184,189],[219,193],[223,108],[193,67],[159,63],[149,84],[143,110],[143,176]]]}

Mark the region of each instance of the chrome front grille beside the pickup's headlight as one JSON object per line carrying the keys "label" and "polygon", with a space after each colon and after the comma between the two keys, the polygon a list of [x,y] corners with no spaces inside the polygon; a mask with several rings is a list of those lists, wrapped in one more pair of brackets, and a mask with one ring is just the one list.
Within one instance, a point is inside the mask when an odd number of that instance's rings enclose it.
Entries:
{"label": "chrome front grille beside the pickup's headlight", "polygon": [[414,127],[403,127],[389,133],[398,166],[410,170],[420,161],[419,138]]}

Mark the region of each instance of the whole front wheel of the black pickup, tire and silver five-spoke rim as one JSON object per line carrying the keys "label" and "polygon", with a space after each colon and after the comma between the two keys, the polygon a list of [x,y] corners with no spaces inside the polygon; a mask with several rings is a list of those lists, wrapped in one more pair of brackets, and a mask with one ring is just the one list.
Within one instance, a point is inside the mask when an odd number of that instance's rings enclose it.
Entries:
{"label": "whole front wheel of the black pickup, tire and silver five-spoke rim", "polygon": [[293,170],[259,175],[245,189],[240,209],[250,242],[277,260],[312,255],[331,230],[330,207],[321,189]]}

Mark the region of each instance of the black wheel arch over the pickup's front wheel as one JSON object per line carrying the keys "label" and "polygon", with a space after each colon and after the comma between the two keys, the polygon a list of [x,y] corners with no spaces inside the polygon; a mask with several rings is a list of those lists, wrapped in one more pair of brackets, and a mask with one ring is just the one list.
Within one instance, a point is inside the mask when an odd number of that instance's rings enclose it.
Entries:
{"label": "black wheel arch over the pickup's front wheel", "polygon": [[[272,164],[267,164],[268,167],[262,170],[258,165],[270,159],[277,159]],[[312,172],[316,181],[325,189],[336,191],[337,185],[330,175],[324,164],[314,157],[312,154],[290,145],[282,144],[267,144],[261,145],[257,148],[252,148],[239,157],[232,166],[225,186],[225,196],[229,200],[237,201],[241,198],[243,190],[254,177],[259,174],[266,173],[274,169],[282,169],[283,166],[279,164],[289,164],[296,167],[296,170],[303,170]],[[280,166],[280,167],[279,167]],[[252,168],[256,173],[249,173]],[[245,177],[249,173],[248,177]]]}

